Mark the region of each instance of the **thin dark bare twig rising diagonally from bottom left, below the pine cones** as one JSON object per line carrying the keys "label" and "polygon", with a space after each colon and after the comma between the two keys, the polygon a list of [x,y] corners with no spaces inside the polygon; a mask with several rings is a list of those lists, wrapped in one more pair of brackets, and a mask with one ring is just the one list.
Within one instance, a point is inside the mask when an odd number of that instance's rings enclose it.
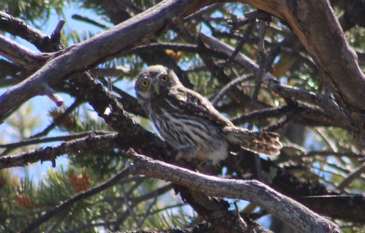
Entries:
{"label": "thin dark bare twig rising diagonally from bottom left, below the pine cones", "polygon": [[99,184],[98,186],[90,188],[87,191],[80,192],[79,194],[77,194],[77,195],[73,196],[72,198],[66,200],[62,204],[53,207],[51,210],[47,211],[45,214],[38,217],[36,220],[31,222],[28,226],[23,228],[19,233],[31,232],[32,230],[37,229],[43,222],[48,221],[50,218],[52,218],[53,216],[55,216],[59,212],[61,212],[63,210],[66,210],[68,207],[70,207],[72,204],[76,203],[77,201],[88,198],[89,196],[97,194],[97,193],[99,193],[99,192],[101,192],[101,191],[103,191],[103,190],[105,190],[105,189],[107,189],[111,186],[114,186],[115,184],[118,183],[118,181],[120,179],[122,179],[123,177],[126,177],[129,174],[128,171],[129,171],[129,169],[125,168],[125,169],[123,169],[123,171],[118,172],[115,176],[113,176],[110,179],[108,179],[107,181]]}

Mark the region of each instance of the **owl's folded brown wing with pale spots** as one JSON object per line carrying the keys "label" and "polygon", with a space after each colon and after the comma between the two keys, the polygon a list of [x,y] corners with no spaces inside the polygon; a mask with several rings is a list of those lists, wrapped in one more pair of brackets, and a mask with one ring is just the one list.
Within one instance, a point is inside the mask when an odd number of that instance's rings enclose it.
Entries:
{"label": "owl's folded brown wing with pale spots", "polygon": [[182,113],[198,116],[222,126],[233,126],[233,123],[220,114],[213,105],[201,96],[184,87],[170,88],[165,100],[170,106]]}

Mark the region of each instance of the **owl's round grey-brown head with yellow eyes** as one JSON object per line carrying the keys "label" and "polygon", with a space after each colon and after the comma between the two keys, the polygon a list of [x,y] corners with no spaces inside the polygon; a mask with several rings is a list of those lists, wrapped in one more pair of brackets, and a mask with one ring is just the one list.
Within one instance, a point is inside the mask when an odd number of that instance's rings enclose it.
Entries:
{"label": "owl's round grey-brown head with yellow eyes", "polygon": [[154,65],[139,73],[134,88],[138,101],[149,101],[178,84],[181,85],[172,69]]}

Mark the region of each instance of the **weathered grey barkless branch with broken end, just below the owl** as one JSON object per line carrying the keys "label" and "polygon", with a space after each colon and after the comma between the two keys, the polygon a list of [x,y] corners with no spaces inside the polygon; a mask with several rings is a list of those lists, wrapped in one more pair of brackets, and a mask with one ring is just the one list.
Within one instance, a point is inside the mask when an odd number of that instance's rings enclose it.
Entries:
{"label": "weathered grey barkless branch with broken end, just below the owl", "polygon": [[298,232],[341,232],[328,218],[314,213],[295,200],[274,191],[257,180],[222,179],[203,175],[162,161],[152,160],[131,150],[128,153],[134,158],[134,162],[130,166],[131,174],[143,173],[187,186],[192,190],[204,192],[210,196],[249,200],[287,222]]}

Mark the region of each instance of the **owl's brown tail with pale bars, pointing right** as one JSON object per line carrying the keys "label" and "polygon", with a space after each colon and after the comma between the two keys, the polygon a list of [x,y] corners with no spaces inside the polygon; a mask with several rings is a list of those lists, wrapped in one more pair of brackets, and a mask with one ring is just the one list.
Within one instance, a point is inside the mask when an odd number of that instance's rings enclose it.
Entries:
{"label": "owl's brown tail with pale bars, pointing right", "polygon": [[280,154],[280,149],[283,148],[276,133],[254,132],[234,126],[223,127],[220,132],[230,144],[265,156]]}

